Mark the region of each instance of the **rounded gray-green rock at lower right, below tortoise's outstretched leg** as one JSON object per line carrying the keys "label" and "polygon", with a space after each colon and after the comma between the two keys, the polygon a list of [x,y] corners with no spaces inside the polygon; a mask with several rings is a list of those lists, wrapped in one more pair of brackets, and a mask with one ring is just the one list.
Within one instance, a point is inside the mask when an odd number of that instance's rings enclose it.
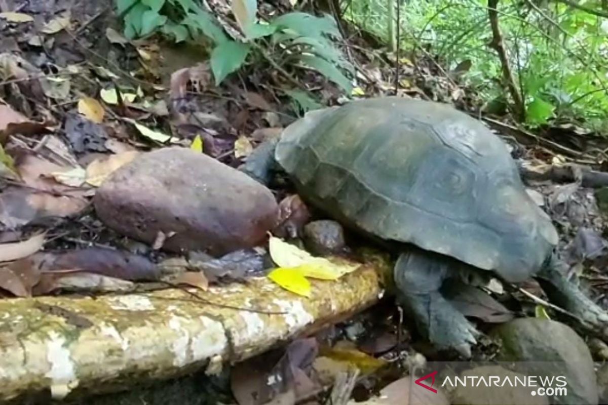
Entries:
{"label": "rounded gray-green rock at lower right, below tortoise's outstretched leg", "polygon": [[591,353],[572,328],[548,319],[520,318],[500,325],[493,334],[502,342],[500,361],[518,362],[528,375],[565,377],[567,396],[551,403],[598,403]]}

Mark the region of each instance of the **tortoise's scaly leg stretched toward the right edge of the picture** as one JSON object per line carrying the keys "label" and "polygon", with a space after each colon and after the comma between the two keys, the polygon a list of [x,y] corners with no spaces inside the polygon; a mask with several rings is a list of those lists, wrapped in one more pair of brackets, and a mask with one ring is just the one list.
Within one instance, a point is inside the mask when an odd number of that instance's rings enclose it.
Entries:
{"label": "tortoise's scaly leg stretched toward the right edge of the picture", "polygon": [[549,301],[587,322],[604,339],[608,338],[608,313],[568,281],[567,270],[568,265],[553,255],[534,277]]}

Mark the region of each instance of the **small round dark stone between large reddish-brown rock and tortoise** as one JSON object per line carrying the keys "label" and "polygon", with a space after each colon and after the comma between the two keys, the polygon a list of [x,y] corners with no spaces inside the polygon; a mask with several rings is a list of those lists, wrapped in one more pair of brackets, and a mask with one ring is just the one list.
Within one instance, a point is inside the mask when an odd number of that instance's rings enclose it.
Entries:
{"label": "small round dark stone between large reddish-brown rock and tortoise", "polygon": [[344,250],[344,230],[333,220],[313,221],[304,226],[304,243],[313,254],[338,254]]}

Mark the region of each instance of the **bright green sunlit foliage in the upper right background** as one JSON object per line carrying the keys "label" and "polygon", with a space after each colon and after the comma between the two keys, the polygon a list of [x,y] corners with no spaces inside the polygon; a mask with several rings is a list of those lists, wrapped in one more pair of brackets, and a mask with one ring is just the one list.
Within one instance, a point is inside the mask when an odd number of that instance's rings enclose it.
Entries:
{"label": "bright green sunlit foliage in the upper right background", "polygon": [[[582,4],[608,15],[598,2]],[[343,12],[389,43],[388,7],[386,0],[352,0]],[[528,124],[581,120],[608,135],[608,19],[555,1],[503,0],[498,10]],[[401,16],[405,50],[427,46],[448,69],[471,60],[466,83],[488,103],[506,97],[500,62],[488,47],[487,1],[411,0],[401,4]]]}

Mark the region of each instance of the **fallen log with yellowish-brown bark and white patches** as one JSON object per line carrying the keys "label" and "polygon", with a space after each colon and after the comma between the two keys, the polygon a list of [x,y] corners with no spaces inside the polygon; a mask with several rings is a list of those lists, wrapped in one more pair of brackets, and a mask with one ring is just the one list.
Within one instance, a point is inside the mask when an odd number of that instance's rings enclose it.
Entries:
{"label": "fallen log with yellowish-brown bark and white patches", "polygon": [[311,298],[265,278],[190,290],[272,315],[206,304],[177,289],[0,300],[0,403],[41,393],[71,399],[200,369],[219,372],[374,304],[384,293],[382,271],[376,261],[335,282],[311,281]]}

